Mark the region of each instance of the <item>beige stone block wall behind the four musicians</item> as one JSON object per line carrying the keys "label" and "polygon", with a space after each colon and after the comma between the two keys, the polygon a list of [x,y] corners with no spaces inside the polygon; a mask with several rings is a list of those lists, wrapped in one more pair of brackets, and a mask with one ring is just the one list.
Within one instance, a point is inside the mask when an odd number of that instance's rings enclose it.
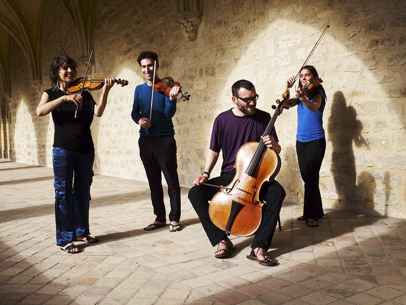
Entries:
{"label": "beige stone block wall behind the four musicians", "polygon": [[[15,47],[12,79],[20,81],[12,82],[11,146],[14,160],[51,166],[52,120],[35,117],[35,108],[50,85],[47,70],[57,46],[75,58],[79,54],[67,45],[72,39],[58,31],[60,24],[70,25],[52,1],[45,9],[41,90],[30,87]],[[329,24],[309,62],[327,93],[327,150],[320,179],[324,206],[406,217],[406,3],[206,0],[202,10],[197,39],[186,42],[172,1],[98,2],[91,76],[114,75],[129,85],[113,87],[103,117],[93,121],[95,172],[146,180],[139,126],[130,117],[133,90],[144,82],[136,63],[141,51],[156,51],[159,75],[174,77],[191,95],[190,101],[178,101],[174,117],[180,181],[189,187],[204,167],[214,118],[233,106],[231,84],[251,80],[260,96],[258,108],[273,113],[270,106],[281,98],[287,77],[297,73]],[[96,101],[99,94],[94,93]],[[286,200],[300,203],[296,125],[295,109],[277,120],[282,146],[277,179],[287,191]]]}

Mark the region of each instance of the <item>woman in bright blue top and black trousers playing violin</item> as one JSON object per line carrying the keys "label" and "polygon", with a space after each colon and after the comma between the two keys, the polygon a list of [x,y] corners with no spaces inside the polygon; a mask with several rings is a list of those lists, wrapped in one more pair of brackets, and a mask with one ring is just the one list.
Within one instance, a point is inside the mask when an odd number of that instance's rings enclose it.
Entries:
{"label": "woman in bright blue top and black trousers playing violin", "polygon": [[[286,81],[285,91],[293,86],[295,77]],[[313,66],[304,66],[300,71],[299,85],[295,86],[296,96],[286,104],[288,107],[297,105],[296,153],[301,178],[304,181],[303,216],[309,227],[318,227],[319,218],[324,216],[319,189],[319,172],[326,150],[326,139],[323,129],[323,110],[326,94],[322,85],[312,85],[319,80]]]}

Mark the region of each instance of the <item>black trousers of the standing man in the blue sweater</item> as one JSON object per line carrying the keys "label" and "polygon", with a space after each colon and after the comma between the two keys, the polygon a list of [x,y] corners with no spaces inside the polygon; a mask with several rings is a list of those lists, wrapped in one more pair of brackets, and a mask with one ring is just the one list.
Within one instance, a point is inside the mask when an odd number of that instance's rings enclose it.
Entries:
{"label": "black trousers of the standing man in the blue sweater", "polygon": [[140,137],[138,144],[151,191],[155,220],[166,222],[162,172],[168,185],[168,195],[171,203],[169,220],[179,222],[181,218],[181,189],[177,171],[175,138],[173,136]]}

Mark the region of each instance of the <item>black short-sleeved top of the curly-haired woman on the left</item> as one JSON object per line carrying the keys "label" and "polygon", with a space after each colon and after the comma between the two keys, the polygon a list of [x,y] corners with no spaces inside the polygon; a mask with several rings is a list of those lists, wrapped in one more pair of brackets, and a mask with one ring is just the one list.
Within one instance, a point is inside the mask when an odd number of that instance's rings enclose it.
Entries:
{"label": "black short-sleeved top of the curly-haired woman on the left", "polygon": [[[51,101],[65,95],[60,89],[48,89],[45,92]],[[93,121],[96,103],[87,91],[84,91],[82,96],[83,101],[79,106],[76,118],[74,102],[63,102],[52,110],[52,119],[55,124],[53,147],[66,148],[80,153],[94,152],[90,125]]]}

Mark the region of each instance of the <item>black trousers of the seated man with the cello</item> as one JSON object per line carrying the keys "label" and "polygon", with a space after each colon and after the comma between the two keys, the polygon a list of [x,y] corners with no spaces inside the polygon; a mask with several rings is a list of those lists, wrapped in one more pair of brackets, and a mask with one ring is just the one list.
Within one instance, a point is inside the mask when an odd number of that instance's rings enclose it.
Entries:
{"label": "black trousers of the seated man with the cello", "polygon": [[[219,177],[210,179],[209,184],[217,186],[228,186],[234,177],[234,173],[224,173]],[[195,209],[201,225],[206,231],[212,246],[216,246],[221,240],[227,239],[226,233],[217,228],[210,220],[209,200],[212,200],[218,192],[217,188],[207,186],[194,186],[190,189],[188,198]],[[286,193],[283,187],[277,182],[266,182],[260,190],[260,199],[264,199],[266,204],[262,207],[262,220],[251,248],[263,248],[268,251],[272,238],[274,237],[275,228],[278,222],[279,212],[282,207],[283,199]]]}

